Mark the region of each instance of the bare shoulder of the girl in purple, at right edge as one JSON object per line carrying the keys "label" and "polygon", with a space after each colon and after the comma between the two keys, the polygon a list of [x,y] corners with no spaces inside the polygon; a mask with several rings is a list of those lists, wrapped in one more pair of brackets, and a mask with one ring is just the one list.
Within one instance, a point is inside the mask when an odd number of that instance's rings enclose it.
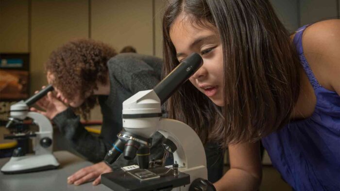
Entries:
{"label": "bare shoulder of the girl in purple, at right edge", "polygon": [[340,95],[340,19],[308,26],[303,33],[302,45],[319,83]]}

